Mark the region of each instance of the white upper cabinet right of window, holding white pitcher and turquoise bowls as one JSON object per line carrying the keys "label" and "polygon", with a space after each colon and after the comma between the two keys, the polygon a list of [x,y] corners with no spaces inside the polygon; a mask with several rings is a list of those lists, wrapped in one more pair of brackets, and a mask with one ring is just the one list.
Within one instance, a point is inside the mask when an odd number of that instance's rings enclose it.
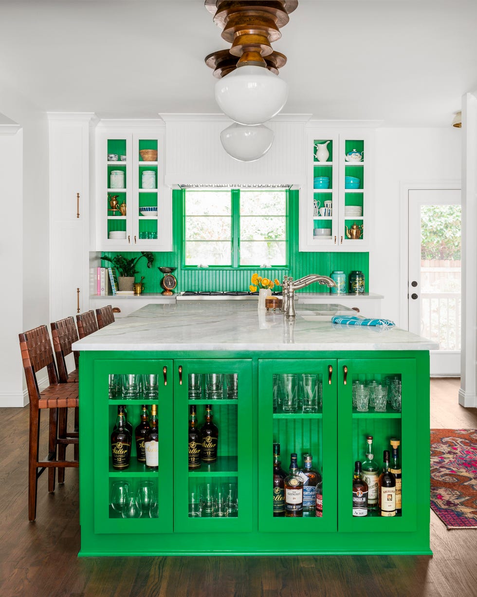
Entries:
{"label": "white upper cabinet right of window, holding white pitcher and turquoise bowls", "polygon": [[373,137],[307,131],[307,189],[300,195],[300,251],[368,251]]}

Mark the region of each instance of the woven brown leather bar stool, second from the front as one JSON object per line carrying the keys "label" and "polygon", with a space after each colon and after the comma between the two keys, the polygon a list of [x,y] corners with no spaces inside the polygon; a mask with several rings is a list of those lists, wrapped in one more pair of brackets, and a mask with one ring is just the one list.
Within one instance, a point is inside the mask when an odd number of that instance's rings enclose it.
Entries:
{"label": "woven brown leather bar stool, second from the front", "polygon": [[[58,370],[58,377],[60,383],[78,383],[79,373],[79,352],[78,350],[72,350],[71,345],[73,342],[78,340],[78,331],[76,330],[75,319],[72,317],[66,317],[59,321],[51,323],[51,338],[53,339],[53,350],[56,356],[56,366]],[[66,357],[73,354],[75,358],[75,370],[68,373],[66,365]],[[67,409],[62,408],[58,416],[58,436],[59,438],[66,437],[67,430]],[[74,430],[78,433],[79,429],[79,409],[75,408],[75,422]],[[79,459],[79,445],[75,445],[75,460]],[[66,452],[66,445],[59,446],[58,457],[63,458]],[[58,470],[58,482],[64,483],[64,469]]]}

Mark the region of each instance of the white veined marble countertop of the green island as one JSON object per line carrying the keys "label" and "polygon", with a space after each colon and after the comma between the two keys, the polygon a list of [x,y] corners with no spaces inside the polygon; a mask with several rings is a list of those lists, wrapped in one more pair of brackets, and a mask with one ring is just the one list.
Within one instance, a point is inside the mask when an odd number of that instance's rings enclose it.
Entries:
{"label": "white veined marble countertop of the green island", "polygon": [[73,350],[432,350],[438,347],[397,327],[341,327],[331,323],[331,315],[348,311],[336,303],[306,305],[297,308],[296,319],[287,320],[280,312],[259,312],[257,304],[251,301],[148,304],[75,342]]}

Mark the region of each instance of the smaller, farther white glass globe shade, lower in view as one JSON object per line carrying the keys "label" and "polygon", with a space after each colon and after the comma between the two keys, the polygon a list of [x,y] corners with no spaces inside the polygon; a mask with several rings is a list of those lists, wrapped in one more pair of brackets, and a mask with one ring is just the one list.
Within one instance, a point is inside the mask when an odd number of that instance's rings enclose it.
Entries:
{"label": "smaller, farther white glass globe shade, lower in view", "polygon": [[272,147],[273,131],[263,124],[244,125],[234,122],[220,133],[220,141],[230,157],[254,162]]}

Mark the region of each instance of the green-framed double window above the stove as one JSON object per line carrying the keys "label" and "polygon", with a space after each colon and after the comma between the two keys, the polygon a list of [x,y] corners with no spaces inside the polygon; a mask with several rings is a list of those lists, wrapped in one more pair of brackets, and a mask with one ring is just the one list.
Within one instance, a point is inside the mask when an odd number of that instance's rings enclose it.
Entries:
{"label": "green-framed double window above the stove", "polygon": [[[200,206],[187,204],[187,193],[214,193],[211,195],[210,206],[200,212]],[[284,193],[283,213],[270,213],[267,211],[267,202],[246,201],[247,193]],[[224,202],[219,199],[223,194]],[[242,197],[242,202],[241,202]],[[262,187],[189,187],[184,189],[183,195],[183,267],[196,269],[200,267],[213,267],[220,269],[245,269],[250,267],[280,267],[286,268],[290,263],[290,230],[288,217],[288,189],[262,188]],[[256,207],[256,210],[255,210]],[[187,210],[189,209],[189,213]],[[261,219],[264,235],[257,234],[257,227],[254,221]],[[200,236],[202,229],[204,236]],[[242,229],[242,235],[241,235]],[[275,236],[275,238],[273,238]],[[228,254],[230,249],[229,263],[191,263],[189,257],[195,248],[196,254],[204,250],[205,243],[213,243],[217,253]],[[244,257],[241,259],[241,245],[244,248]],[[264,245],[267,245],[264,247]],[[254,255],[273,254],[282,256],[281,263],[252,263]],[[199,259],[197,259],[199,260]],[[204,260],[206,261],[206,260]],[[260,261],[260,260],[258,260]]]}

